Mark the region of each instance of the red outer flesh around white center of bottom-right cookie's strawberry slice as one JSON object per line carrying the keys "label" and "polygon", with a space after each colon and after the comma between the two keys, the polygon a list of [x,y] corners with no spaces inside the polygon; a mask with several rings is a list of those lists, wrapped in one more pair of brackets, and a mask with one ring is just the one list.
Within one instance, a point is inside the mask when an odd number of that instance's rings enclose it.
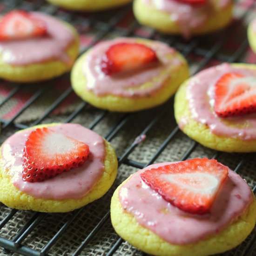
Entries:
{"label": "red outer flesh around white center of bottom-right cookie's strawberry slice", "polygon": [[[170,183],[159,178],[159,175],[168,174],[168,172],[170,171],[169,168],[172,168],[172,174],[184,174],[184,169],[186,170],[186,174],[193,174],[194,172],[200,173],[202,170],[202,166],[208,166],[208,168],[211,169],[210,172],[212,172],[212,167],[218,170],[216,176],[220,180],[219,187],[216,193],[211,196],[211,198],[204,198],[205,196],[202,196],[201,198],[201,195],[198,194],[199,198],[196,201],[195,199],[197,198],[195,197],[195,195],[193,195],[193,193],[191,193],[191,191],[184,189],[182,190],[179,188],[178,185],[174,185],[173,189],[170,189]],[[197,169],[199,170],[199,172]],[[162,196],[165,201],[170,202],[173,206],[190,214],[203,215],[210,212],[210,208],[214,200],[216,199],[217,194],[221,191],[222,186],[228,177],[228,171],[228,167],[222,165],[214,159],[209,160],[207,158],[195,158],[165,166],[160,166],[158,168],[148,169],[141,173],[140,176],[143,182],[145,182],[151,189],[155,190],[159,195]],[[175,191],[175,193],[173,193],[173,191]],[[189,193],[193,195],[191,196],[191,198],[193,198],[194,200],[186,198],[186,196],[190,195]]]}

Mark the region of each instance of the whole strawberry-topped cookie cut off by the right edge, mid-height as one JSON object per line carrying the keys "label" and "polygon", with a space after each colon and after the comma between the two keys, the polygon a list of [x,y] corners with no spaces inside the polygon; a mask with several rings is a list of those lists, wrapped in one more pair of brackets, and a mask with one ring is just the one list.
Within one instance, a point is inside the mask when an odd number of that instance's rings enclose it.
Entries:
{"label": "whole strawberry-topped cookie cut off by the right edge, mid-height", "polygon": [[225,63],[185,81],[175,95],[175,118],[206,147],[256,151],[256,65]]}

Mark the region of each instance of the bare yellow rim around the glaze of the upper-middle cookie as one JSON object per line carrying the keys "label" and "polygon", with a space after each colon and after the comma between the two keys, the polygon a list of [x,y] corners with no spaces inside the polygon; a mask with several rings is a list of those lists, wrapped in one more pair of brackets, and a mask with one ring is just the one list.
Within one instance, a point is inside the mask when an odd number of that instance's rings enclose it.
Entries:
{"label": "bare yellow rim around the glaze of the upper-middle cookie", "polygon": [[[154,42],[154,40],[138,39],[140,43]],[[175,50],[175,49],[174,49]],[[88,50],[89,51],[89,50]],[[143,109],[153,108],[161,105],[167,101],[173,94],[175,94],[178,87],[184,80],[189,77],[189,67],[186,59],[175,50],[175,57],[182,61],[182,65],[177,67],[177,72],[168,76],[162,87],[155,92],[154,95],[129,98],[116,95],[97,96],[92,91],[86,88],[86,77],[82,72],[82,65],[86,61],[88,51],[82,54],[75,62],[71,71],[71,85],[74,92],[81,97],[82,100],[87,101],[91,105],[116,112],[135,112]],[[173,78],[175,76],[175,79]],[[175,83],[172,83],[173,80]]]}

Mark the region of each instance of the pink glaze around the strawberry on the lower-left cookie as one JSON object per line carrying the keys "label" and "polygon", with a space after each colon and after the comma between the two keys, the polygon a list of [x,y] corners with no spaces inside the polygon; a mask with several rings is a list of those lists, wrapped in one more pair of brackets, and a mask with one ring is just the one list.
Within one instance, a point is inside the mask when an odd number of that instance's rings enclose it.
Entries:
{"label": "pink glaze around the strawberry on the lower-left cookie", "polygon": [[105,145],[100,135],[78,124],[60,124],[49,129],[70,136],[89,145],[88,160],[79,168],[55,176],[44,182],[22,180],[22,151],[31,130],[9,137],[2,145],[2,164],[11,176],[13,185],[28,195],[44,199],[81,198],[101,178],[104,171]]}

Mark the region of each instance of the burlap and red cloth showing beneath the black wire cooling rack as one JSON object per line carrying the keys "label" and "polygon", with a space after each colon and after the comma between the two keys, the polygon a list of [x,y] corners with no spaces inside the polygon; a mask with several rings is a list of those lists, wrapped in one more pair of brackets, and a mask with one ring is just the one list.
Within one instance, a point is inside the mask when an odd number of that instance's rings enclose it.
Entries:
{"label": "burlap and red cloth showing beneath the black wire cooling rack", "polygon": [[[31,2],[31,1],[23,1]],[[227,35],[227,40],[223,47],[213,56],[213,59],[206,64],[214,65],[219,63],[221,59],[232,57],[239,46],[243,43],[246,38],[246,23],[251,20],[254,15],[254,10],[251,10],[249,15],[243,17],[243,20],[239,19],[243,15],[249,4],[253,2],[240,1],[240,4],[236,8],[236,21],[225,33],[219,33],[208,37],[202,37],[202,46],[205,49],[211,49],[216,43],[216,40],[220,40],[223,35]],[[48,7],[47,4],[44,8]],[[63,14],[63,11],[61,11]],[[111,14],[112,15],[112,14]],[[237,21],[238,20],[238,21]],[[129,14],[125,17],[125,20],[120,22],[119,27],[130,26],[134,22],[133,17]],[[82,47],[90,44],[94,40],[95,32],[93,29],[89,30],[90,34],[82,34]],[[117,30],[113,34],[107,36],[115,36],[118,34]],[[150,30],[147,28],[138,27],[134,34],[149,35]],[[239,36],[238,36],[239,34]],[[181,39],[178,39],[178,41]],[[182,41],[182,40],[181,40]],[[183,41],[182,41],[183,43]],[[200,43],[201,45],[201,43]],[[177,44],[177,47],[179,45]],[[192,73],[197,71],[198,65],[205,60],[204,57],[200,57],[195,52],[187,56],[189,64],[191,66]],[[245,61],[250,63],[256,63],[256,55],[253,54],[249,47],[243,51],[243,56],[239,61]],[[66,83],[66,84],[65,84]],[[33,88],[33,85],[23,87],[20,91],[15,94],[10,101],[7,101],[0,108],[0,116],[2,118],[12,118],[17,111],[27,102],[27,100],[33,95],[37,88]],[[51,81],[47,85],[47,89],[34,103],[23,112],[15,122],[22,122],[23,124],[31,125],[37,118],[51,106],[51,104],[58,99],[61,92],[67,90],[69,87],[68,76],[64,76],[61,79]],[[7,93],[14,88],[13,85],[3,82],[0,87],[0,100],[2,100]],[[17,103],[18,101],[18,103]],[[82,101],[80,101],[74,94],[68,97],[65,102],[61,103],[47,118],[43,120],[44,123],[66,121],[69,113],[76,109]],[[23,104],[23,105],[22,105]],[[85,107],[81,113],[73,120],[73,122],[80,123],[85,127],[90,127],[95,118],[100,116],[104,111],[92,108],[90,106]],[[135,141],[135,138],[141,134],[142,130],[146,128],[150,121],[155,117],[160,117],[159,121],[148,131],[146,139],[139,143],[135,150],[132,151],[128,158],[137,162],[147,164],[152,162],[152,158],[155,156],[159,147],[168,138],[170,132],[176,127],[176,123],[173,116],[173,100],[171,99],[161,107],[154,108],[152,110],[142,111],[134,114],[117,114],[108,113],[95,127],[94,131],[102,136],[107,136],[109,131],[117,124],[123,126],[118,130],[115,136],[112,137],[111,142],[116,150],[116,153],[121,157],[128,147]],[[0,135],[0,141],[4,141],[9,135],[17,131],[17,128],[10,126],[3,129]],[[167,147],[153,162],[163,161],[178,161],[184,154],[193,146],[194,141],[190,140],[181,131],[177,131],[174,137],[169,141]],[[189,158],[193,157],[212,157],[216,154],[214,150],[204,148],[201,145],[195,145],[195,148],[191,151]],[[256,185],[256,162],[255,154],[228,154],[220,153],[218,160],[230,168],[236,168],[237,164],[245,157],[245,161],[238,172],[245,178],[249,185],[253,188]],[[94,227],[101,221],[102,217],[108,214],[110,199],[115,188],[125,180],[130,174],[137,171],[138,168],[133,168],[125,163],[120,165],[118,176],[113,187],[108,193],[103,196],[100,200],[93,202],[79,211],[79,214],[67,227],[65,232],[60,238],[54,243],[53,247],[48,251],[49,255],[72,255],[82,241],[88,236],[88,234],[94,229]],[[0,221],[11,211],[11,209],[0,204]],[[66,214],[46,214],[44,218],[36,225],[33,231],[26,237],[22,242],[22,245],[32,249],[39,250],[43,249],[44,246],[50,241],[50,239],[61,229],[61,227],[67,223],[77,211],[66,213]],[[32,211],[17,211],[15,215],[7,222],[7,224],[0,230],[0,237],[7,238],[10,240],[15,239],[15,236],[19,231],[26,225],[27,222],[34,216]],[[248,239],[234,250],[225,253],[225,256],[253,256],[256,255],[256,237],[255,231]],[[115,244],[119,236],[116,235],[114,229],[111,226],[110,218],[106,219],[104,224],[101,226],[99,231],[89,241],[85,249],[82,250],[81,255],[106,255],[109,249]],[[254,243],[251,243],[254,241]],[[245,249],[251,246],[249,252],[243,254]],[[11,252],[0,249],[0,255],[17,255]],[[142,253],[132,247],[126,242],[122,242],[120,247],[117,249],[114,255],[133,255],[139,256]]]}

